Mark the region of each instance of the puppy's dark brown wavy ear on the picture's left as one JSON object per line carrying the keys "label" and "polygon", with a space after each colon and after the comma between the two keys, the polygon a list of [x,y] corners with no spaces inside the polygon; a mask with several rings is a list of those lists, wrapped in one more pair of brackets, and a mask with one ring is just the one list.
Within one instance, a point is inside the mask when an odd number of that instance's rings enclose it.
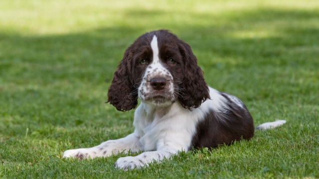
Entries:
{"label": "puppy's dark brown wavy ear on the picture's left", "polygon": [[108,101],[119,111],[128,111],[138,104],[138,94],[132,82],[132,47],[126,49],[120,65],[116,69],[108,91]]}

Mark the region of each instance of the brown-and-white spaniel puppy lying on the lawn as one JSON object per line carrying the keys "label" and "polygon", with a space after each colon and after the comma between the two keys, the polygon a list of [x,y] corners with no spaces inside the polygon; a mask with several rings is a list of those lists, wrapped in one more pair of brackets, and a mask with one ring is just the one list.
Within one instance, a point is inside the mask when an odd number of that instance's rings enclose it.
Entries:
{"label": "brown-and-white spaniel puppy lying on the lawn", "polygon": [[[178,151],[215,148],[254,136],[253,118],[236,96],[207,86],[190,46],[167,30],[140,36],[124,53],[108,91],[119,111],[135,108],[135,131],[92,148],[67,150],[64,158],[122,157],[115,167],[128,170],[170,159]],[[282,125],[279,120],[257,128]]]}

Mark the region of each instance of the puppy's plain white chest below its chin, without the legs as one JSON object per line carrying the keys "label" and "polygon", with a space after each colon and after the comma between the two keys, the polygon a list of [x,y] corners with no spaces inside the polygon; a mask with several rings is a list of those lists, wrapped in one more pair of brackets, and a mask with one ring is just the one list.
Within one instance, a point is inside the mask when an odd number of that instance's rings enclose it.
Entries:
{"label": "puppy's plain white chest below its chin, without the legs", "polygon": [[142,103],[135,111],[135,132],[140,136],[140,143],[145,151],[155,151],[173,145],[188,149],[196,130],[196,123],[201,112],[189,111],[178,103],[163,110],[148,110]]}

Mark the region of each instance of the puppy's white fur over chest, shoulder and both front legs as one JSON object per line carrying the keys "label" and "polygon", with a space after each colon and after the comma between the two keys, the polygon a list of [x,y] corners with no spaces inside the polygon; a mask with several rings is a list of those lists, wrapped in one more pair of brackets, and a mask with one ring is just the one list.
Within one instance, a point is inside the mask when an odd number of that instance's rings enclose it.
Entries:
{"label": "puppy's white fur over chest, shoulder and both front legs", "polygon": [[102,144],[84,149],[67,150],[64,158],[107,157],[118,152],[146,151],[136,157],[119,158],[116,167],[123,170],[148,166],[153,161],[169,159],[178,151],[187,151],[196,132],[196,124],[204,119],[209,109],[223,110],[224,101],[220,93],[212,88],[211,99],[192,111],[183,108],[178,101],[165,107],[142,102],[135,111],[134,133],[118,140],[109,140]]}

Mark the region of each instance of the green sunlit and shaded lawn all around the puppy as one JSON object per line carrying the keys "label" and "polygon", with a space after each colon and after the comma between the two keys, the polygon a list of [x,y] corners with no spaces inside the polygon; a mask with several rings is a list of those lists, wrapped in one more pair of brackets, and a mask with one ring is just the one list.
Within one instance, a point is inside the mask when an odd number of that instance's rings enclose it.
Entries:
{"label": "green sunlit and shaded lawn all around the puppy", "polygon": [[[124,154],[61,159],[133,132],[107,89],[126,47],[160,28],[255,125],[287,124],[136,171],[114,169]],[[0,178],[319,178],[318,39],[318,0],[1,0]]]}

